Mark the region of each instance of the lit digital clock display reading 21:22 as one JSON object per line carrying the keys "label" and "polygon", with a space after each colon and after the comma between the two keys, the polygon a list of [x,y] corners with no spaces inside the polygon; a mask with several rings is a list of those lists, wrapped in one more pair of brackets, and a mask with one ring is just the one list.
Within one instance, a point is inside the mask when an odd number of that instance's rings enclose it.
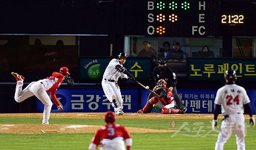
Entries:
{"label": "lit digital clock display reading 21:22", "polygon": [[223,13],[220,19],[222,25],[236,26],[245,23],[244,13]]}

